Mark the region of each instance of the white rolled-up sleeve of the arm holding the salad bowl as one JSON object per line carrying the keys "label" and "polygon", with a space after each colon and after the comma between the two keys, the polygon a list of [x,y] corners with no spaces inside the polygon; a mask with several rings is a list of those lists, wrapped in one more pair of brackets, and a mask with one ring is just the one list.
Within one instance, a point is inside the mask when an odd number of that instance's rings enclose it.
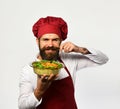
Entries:
{"label": "white rolled-up sleeve of the arm holding the salad bowl", "polygon": [[23,67],[19,80],[19,109],[35,109],[41,103],[34,95],[35,77],[29,66]]}

